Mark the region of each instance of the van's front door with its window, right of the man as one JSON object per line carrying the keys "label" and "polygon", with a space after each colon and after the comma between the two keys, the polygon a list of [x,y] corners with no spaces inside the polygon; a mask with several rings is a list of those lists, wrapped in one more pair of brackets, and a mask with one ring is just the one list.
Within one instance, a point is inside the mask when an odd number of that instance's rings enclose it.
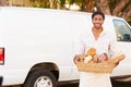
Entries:
{"label": "van's front door with its window, right of the man", "polygon": [[117,45],[126,54],[126,59],[115,69],[114,75],[131,75],[131,27],[123,20],[114,20]]}

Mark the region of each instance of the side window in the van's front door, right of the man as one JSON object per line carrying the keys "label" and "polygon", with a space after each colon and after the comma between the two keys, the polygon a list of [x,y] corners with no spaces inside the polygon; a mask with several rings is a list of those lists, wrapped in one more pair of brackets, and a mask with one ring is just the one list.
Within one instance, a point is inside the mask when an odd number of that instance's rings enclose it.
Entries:
{"label": "side window in the van's front door, right of the man", "polygon": [[131,41],[131,28],[120,20],[114,20],[118,41]]}

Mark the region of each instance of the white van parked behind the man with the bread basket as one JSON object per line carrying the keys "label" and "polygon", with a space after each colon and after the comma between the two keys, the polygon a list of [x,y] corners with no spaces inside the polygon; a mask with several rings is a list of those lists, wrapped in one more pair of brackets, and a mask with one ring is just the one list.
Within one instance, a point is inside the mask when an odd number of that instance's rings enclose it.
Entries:
{"label": "white van parked behind the man with the bread basket", "polygon": [[[91,13],[33,8],[0,8],[0,79],[2,86],[57,87],[79,79],[74,39],[92,27]],[[106,15],[104,27],[118,40],[126,59],[112,76],[131,75],[131,26]]]}

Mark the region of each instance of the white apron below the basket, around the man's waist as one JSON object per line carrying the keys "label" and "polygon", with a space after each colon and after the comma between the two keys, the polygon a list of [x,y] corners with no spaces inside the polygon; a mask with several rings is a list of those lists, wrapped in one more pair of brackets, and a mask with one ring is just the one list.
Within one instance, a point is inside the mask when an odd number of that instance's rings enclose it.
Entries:
{"label": "white apron below the basket, around the man's waist", "polygon": [[79,87],[112,87],[109,75],[82,72]]}

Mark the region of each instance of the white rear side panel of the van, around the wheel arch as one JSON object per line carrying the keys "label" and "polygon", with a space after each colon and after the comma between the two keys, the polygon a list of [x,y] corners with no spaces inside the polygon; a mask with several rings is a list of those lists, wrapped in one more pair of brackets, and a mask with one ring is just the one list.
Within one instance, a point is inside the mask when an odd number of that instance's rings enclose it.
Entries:
{"label": "white rear side panel of the van, around the wheel arch", "polygon": [[[47,15],[41,11],[25,12],[17,9],[7,9],[1,13],[0,38],[3,44],[1,47],[5,48],[5,63],[0,67],[12,73],[9,76],[10,80],[4,78],[3,85],[12,83],[14,78],[19,79],[14,79],[15,83],[23,83],[21,79],[26,78],[31,67],[40,62],[57,64],[60,71],[59,79],[70,79],[72,61],[69,59],[73,57],[68,15],[53,12],[48,12],[51,15]],[[37,16],[32,15],[36,13]],[[5,72],[1,72],[1,75],[3,74],[7,75]]]}

